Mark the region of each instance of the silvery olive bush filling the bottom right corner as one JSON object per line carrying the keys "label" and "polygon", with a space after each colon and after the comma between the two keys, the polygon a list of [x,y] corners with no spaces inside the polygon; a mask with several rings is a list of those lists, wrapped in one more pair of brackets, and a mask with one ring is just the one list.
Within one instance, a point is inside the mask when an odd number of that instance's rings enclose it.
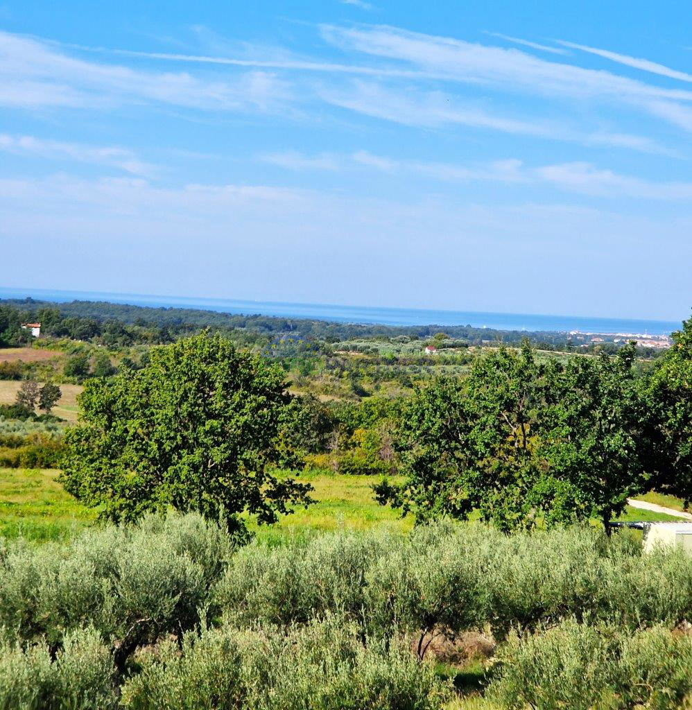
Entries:
{"label": "silvery olive bush filling the bottom right corner", "polygon": [[490,694],[517,710],[673,709],[692,699],[691,669],[689,636],[567,621],[522,640],[513,635]]}

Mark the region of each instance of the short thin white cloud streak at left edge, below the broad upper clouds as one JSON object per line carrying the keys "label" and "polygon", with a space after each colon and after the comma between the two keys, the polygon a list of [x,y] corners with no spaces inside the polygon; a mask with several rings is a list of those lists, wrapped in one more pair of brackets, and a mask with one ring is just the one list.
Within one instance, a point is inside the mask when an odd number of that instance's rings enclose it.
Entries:
{"label": "short thin white cloud streak at left edge, below the broad upper clouds", "polygon": [[136,153],[115,146],[87,146],[83,143],[52,141],[35,136],[11,136],[0,133],[0,151],[13,155],[35,156],[48,160],[70,160],[117,168],[132,175],[153,175],[158,168],[140,160]]}

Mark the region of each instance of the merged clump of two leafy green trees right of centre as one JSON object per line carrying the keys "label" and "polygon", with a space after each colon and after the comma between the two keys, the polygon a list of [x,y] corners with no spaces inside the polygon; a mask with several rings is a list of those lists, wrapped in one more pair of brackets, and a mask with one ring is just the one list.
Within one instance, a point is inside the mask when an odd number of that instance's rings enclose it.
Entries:
{"label": "merged clump of two leafy green trees right of centre", "polygon": [[405,481],[375,490],[417,520],[478,510],[502,530],[608,522],[648,484],[635,349],[541,362],[528,346],[480,356],[466,381],[414,395],[400,424]]}

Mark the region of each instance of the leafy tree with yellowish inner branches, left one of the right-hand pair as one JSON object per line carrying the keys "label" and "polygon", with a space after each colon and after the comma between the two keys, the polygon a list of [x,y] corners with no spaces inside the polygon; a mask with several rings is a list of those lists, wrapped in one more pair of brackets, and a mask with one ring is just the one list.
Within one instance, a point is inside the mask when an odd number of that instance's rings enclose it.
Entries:
{"label": "leafy tree with yellowish inner branches, left one of the right-hand pair", "polygon": [[395,440],[406,479],[375,486],[417,520],[466,518],[472,510],[498,527],[530,527],[527,492],[537,479],[535,414],[542,368],[532,350],[504,348],[478,358],[465,381],[440,379],[418,391]]}

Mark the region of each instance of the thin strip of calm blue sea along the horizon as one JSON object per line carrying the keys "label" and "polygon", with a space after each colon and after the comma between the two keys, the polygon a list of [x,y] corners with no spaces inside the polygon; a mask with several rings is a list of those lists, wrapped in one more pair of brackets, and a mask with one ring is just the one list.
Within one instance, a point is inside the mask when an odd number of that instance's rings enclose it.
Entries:
{"label": "thin strip of calm blue sea along the horizon", "polygon": [[588,316],[528,315],[523,313],[483,313],[473,311],[430,310],[417,308],[380,308],[338,306],[322,303],[282,303],[241,301],[221,298],[151,296],[126,293],[56,291],[36,288],[0,288],[0,298],[26,298],[66,302],[72,300],[108,301],[141,306],[199,308],[243,315],[261,314],[290,318],[315,318],[344,323],[383,325],[472,325],[500,330],[543,330],[588,333],[636,333],[665,335],[680,328],[679,322],[593,318]]}

